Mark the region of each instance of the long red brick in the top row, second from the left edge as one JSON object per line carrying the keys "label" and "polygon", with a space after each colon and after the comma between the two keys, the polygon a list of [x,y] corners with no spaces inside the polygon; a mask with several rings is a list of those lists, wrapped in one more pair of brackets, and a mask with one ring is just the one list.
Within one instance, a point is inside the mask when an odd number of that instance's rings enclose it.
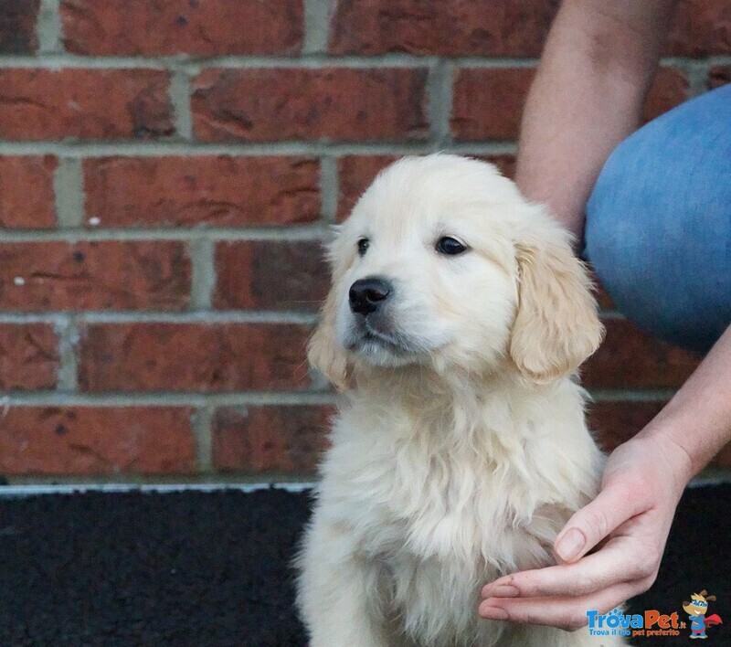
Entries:
{"label": "long red brick in the top row, second from the left edge", "polygon": [[291,54],[302,45],[302,0],[62,0],[60,15],[75,54]]}

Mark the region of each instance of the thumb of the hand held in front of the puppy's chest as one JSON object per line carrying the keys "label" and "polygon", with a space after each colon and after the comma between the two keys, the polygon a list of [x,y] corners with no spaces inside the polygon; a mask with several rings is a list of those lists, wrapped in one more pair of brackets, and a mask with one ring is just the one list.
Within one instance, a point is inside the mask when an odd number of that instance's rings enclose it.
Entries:
{"label": "thumb of the hand held in front of the puppy's chest", "polygon": [[618,526],[640,512],[639,497],[631,486],[614,482],[605,486],[596,499],[585,505],[558,533],[554,552],[563,562],[574,562]]}

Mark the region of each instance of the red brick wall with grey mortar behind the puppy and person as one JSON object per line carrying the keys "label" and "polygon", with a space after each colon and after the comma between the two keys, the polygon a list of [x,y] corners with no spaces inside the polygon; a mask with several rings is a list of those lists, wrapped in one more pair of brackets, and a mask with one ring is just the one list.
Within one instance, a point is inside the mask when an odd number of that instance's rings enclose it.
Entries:
{"label": "red brick wall with grey mortar behind the puppy and person", "polygon": [[[308,478],[319,240],[399,154],[511,174],[556,5],[2,3],[0,473]],[[647,118],[729,80],[726,0],[681,2],[665,54]],[[611,445],[697,358],[603,305],[585,374]]]}

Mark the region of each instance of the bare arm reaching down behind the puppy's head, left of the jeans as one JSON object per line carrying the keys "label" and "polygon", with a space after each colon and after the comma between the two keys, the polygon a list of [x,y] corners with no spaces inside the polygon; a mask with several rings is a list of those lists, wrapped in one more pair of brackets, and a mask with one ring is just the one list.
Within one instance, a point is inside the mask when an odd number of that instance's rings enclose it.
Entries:
{"label": "bare arm reaching down behind the puppy's head, left of the jeans", "polygon": [[637,128],[674,0],[567,0],[526,100],[516,181],[578,240],[612,149]]}

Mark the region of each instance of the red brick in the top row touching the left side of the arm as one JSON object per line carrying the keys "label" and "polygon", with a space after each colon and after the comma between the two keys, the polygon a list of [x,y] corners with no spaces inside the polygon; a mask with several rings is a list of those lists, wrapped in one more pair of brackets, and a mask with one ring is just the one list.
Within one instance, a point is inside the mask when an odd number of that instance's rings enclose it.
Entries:
{"label": "red brick in the top row touching the left side of the arm", "polygon": [[335,0],[330,52],[536,57],[557,0]]}

